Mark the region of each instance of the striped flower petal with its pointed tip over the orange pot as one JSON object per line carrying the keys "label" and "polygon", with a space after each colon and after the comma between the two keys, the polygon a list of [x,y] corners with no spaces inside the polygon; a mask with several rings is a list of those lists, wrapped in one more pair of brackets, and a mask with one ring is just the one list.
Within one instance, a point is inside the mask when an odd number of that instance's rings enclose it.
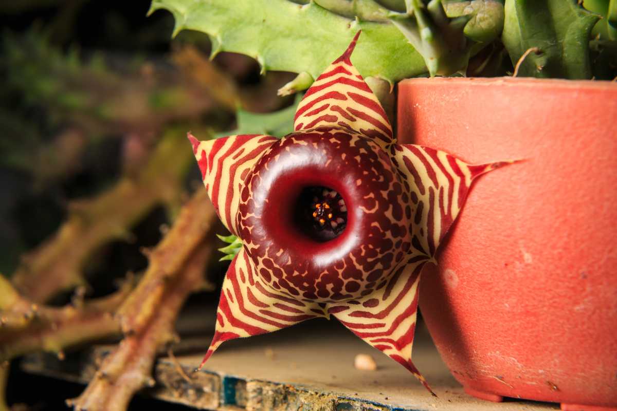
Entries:
{"label": "striped flower petal with its pointed tip over the orange pot", "polygon": [[412,197],[412,245],[430,258],[463,207],[473,179],[511,163],[469,165],[445,152],[413,144],[394,145],[393,160]]}

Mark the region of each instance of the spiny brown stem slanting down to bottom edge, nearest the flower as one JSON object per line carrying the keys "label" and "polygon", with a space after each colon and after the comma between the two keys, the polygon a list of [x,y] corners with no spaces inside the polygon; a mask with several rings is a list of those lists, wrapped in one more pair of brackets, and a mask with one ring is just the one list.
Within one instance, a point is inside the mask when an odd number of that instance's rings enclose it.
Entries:
{"label": "spiny brown stem slanting down to bottom edge, nearest the flower", "polygon": [[106,357],[76,410],[126,410],[131,397],[153,386],[152,365],[160,348],[177,340],[174,323],[188,295],[203,287],[212,251],[215,212],[204,189],[181,210],[164,240],[149,253],[143,280],[118,310],[125,338]]}

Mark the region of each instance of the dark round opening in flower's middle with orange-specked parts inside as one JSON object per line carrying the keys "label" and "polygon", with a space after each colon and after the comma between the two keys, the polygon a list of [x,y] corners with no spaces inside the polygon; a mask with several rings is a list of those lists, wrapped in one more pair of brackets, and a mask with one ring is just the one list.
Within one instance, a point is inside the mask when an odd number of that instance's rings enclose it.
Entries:
{"label": "dark round opening in flower's middle with orange-specked parts inside", "polygon": [[329,187],[305,187],[294,205],[294,224],[317,242],[332,240],[347,226],[345,200]]}

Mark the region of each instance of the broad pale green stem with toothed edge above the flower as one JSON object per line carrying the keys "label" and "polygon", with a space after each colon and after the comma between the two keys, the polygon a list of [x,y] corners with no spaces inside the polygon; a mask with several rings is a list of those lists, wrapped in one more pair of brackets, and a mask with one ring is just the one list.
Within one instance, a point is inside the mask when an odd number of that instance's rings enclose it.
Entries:
{"label": "broad pale green stem with toothed edge above the flower", "polygon": [[172,12],[174,33],[203,31],[212,39],[214,54],[246,54],[262,70],[305,71],[317,78],[362,29],[352,57],[360,74],[394,83],[426,73],[421,55],[394,25],[351,20],[314,2],[153,0],[150,12],[158,9]]}

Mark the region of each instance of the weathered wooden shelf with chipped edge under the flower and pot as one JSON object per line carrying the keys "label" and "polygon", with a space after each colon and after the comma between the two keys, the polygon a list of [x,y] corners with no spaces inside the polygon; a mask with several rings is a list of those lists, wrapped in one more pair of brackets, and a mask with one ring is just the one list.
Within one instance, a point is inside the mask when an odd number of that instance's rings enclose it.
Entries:
{"label": "weathered wooden shelf with chipped edge under the flower and pot", "polygon": [[[200,317],[207,321],[207,316]],[[280,332],[230,341],[223,344],[204,370],[194,372],[208,343],[208,338],[185,337],[173,349],[175,359],[160,357],[154,371],[157,386],[144,391],[144,395],[208,410],[558,409],[557,404],[529,401],[494,404],[466,395],[422,328],[413,358],[437,398],[407,370],[371,349],[336,321],[313,320]],[[78,351],[64,361],[47,354],[28,356],[22,367],[32,373],[86,383],[112,347],[101,345]],[[354,357],[361,353],[375,358],[376,371],[354,368]]]}

